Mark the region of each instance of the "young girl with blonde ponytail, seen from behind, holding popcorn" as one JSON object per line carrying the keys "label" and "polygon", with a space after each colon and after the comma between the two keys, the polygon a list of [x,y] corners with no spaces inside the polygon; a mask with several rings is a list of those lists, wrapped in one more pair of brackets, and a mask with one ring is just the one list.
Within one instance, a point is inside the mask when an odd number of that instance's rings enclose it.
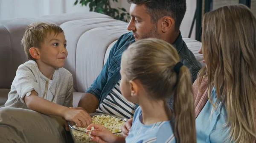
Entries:
{"label": "young girl with blonde ponytail, seen from behind, holding popcorn", "polygon": [[[122,95],[140,105],[134,114],[133,126],[124,138],[103,126],[91,124],[87,129],[94,127],[90,132],[93,141],[196,143],[191,74],[179,62],[172,45],[160,39],[133,43],[122,54],[120,73]],[[169,98],[174,98],[174,112],[166,104]]]}

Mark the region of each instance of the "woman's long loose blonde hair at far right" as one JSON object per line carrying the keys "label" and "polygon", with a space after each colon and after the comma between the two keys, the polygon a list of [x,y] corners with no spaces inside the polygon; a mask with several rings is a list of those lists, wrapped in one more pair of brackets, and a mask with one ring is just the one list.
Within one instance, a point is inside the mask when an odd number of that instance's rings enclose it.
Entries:
{"label": "woman's long loose blonde hair at far right", "polygon": [[244,5],[223,6],[204,15],[202,50],[207,64],[198,74],[199,84],[208,79],[208,98],[216,88],[215,109],[227,110],[226,142],[255,140],[256,18]]}

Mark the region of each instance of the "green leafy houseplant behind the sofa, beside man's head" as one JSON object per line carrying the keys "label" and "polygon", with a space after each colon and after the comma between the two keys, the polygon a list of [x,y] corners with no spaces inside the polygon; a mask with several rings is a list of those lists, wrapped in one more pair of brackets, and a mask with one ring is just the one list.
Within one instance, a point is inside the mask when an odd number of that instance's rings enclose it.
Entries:
{"label": "green leafy houseplant behind the sofa, beside man's head", "polygon": [[[113,0],[113,2],[118,2],[118,0]],[[74,5],[77,5],[78,3],[82,6],[87,6],[89,4],[90,11],[106,14],[116,20],[128,22],[131,18],[125,8],[112,8],[110,0],[76,0]]]}

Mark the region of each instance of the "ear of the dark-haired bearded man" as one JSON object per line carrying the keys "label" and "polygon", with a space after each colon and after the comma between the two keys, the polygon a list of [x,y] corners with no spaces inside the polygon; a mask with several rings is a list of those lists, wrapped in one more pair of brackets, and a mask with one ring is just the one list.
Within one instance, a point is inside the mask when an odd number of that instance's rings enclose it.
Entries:
{"label": "ear of the dark-haired bearded man", "polygon": [[163,33],[166,33],[169,30],[175,30],[175,20],[172,17],[165,16],[160,22]]}

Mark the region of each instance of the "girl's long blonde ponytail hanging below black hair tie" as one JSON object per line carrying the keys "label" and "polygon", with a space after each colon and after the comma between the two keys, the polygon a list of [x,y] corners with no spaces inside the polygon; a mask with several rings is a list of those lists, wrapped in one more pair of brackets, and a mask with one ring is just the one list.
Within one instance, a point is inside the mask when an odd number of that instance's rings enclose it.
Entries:
{"label": "girl's long blonde ponytail hanging below black hair tie", "polygon": [[180,67],[177,73],[174,94],[174,135],[177,143],[196,143],[195,106],[191,73],[185,66]]}

